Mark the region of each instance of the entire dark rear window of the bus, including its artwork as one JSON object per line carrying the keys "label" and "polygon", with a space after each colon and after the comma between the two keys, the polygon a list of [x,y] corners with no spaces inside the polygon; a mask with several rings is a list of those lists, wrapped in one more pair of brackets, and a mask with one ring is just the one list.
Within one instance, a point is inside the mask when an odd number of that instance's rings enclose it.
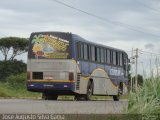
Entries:
{"label": "entire dark rear window of the bus, including its artwork", "polygon": [[67,59],[69,53],[69,36],[63,34],[32,34],[29,44],[29,58]]}

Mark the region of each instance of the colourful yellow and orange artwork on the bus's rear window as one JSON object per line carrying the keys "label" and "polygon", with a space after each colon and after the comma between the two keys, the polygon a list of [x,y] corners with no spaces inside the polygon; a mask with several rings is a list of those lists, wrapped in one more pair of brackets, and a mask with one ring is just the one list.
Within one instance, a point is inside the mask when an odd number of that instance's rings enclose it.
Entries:
{"label": "colourful yellow and orange artwork on the bus's rear window", "polygon": [[53,35],[34,35],[32,52],[35,58],[67,58],[69,41]]}

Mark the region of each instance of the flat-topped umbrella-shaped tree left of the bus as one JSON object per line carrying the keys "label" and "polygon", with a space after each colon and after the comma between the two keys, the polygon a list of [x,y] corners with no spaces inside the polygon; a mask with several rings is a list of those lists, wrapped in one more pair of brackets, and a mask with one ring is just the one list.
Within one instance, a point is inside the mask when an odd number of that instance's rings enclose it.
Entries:
{"label": "flat-topped umbrella-shaped tree left of the bus", "polygon": [[8,54],[12,54],[8,60],[14,60],[17,55],[27,52],[28,40],[19,37],[5,37],[0,39],[0,51],[4,55],[4,61],[7,61]]}

